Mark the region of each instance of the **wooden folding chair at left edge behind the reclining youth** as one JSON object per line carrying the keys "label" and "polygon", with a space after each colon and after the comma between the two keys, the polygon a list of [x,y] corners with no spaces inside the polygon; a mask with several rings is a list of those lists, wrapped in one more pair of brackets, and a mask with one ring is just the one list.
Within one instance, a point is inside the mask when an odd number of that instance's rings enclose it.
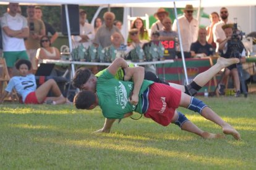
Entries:
{"label": "wooden folding chair at left edge behind the reclining youth", "polygon": [[[6,60],[2,57],[0,57],[0,95],[2,95],[2,91],[4,90],[4,87],[7,86],[8,82],[10,80],[10,76],[7,70]],[[19,96],[17,95],[17,92],[15,89],[13,89],[11,95],[12,102],[19,101]]]}

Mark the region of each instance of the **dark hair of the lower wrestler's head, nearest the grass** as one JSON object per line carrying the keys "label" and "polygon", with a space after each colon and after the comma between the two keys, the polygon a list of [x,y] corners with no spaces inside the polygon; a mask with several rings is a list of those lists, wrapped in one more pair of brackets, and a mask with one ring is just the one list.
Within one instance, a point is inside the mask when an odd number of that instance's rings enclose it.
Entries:
{"label": "dark hair of the lower wrestler's head, nearest the grass", "polygon": [[74,97],[74,105],[78,109],[88,109],[95,101],[95,93],[90,91],[80,91]]}

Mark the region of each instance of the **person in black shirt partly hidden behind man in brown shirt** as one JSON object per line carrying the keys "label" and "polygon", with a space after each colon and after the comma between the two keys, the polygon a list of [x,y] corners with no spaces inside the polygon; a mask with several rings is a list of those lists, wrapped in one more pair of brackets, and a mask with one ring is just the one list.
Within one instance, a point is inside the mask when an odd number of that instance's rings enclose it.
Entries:
{"label": "person in black shirt partly hidden behind man in brown shirt", "polygon": [[[35,7],[35,17],[38,20],[42,20],[42,16],[43,16],[43,12],[40,6],[36,6]],[[43,23],[45,24],[45,34],[48,36],[48,33],[51,34],[51,44],[53,44],[53,42],[58,38],[58,33],[56,32],[56,30],[54,30],[53,26],[51,26],[49,23],[45,22],[44,20],[42,20]]]}

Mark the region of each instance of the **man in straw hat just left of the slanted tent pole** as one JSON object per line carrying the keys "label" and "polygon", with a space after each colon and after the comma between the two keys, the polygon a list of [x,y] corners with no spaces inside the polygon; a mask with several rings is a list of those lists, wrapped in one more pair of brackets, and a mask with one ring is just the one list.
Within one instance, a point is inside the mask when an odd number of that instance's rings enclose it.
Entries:
{"label": "man in straw hat just left of the slanted tent pole", "polygon": [[163,30],[163,19],[168,17],[168,15],[169,13],[163,8],[157,10],[157,12],[154,14],[154,17],[158,20],[151,26],[151,33]]}

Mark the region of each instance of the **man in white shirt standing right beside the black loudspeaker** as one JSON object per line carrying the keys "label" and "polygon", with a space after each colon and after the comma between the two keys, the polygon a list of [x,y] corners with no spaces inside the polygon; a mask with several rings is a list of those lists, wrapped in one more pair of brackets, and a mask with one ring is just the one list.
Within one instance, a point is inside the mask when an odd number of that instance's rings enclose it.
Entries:
{"label": "man in white shirt standing right beside the black loudspeaker", "polygon": [[94,28],[90,23],[86,23],[87,14],[85,10],[79,9],[79,26],[80,34],[79,36],[72,36],[73,47],[78,47],[83,44],[83,47],[88,49],[92,45],[92,41],[95,37]]}

